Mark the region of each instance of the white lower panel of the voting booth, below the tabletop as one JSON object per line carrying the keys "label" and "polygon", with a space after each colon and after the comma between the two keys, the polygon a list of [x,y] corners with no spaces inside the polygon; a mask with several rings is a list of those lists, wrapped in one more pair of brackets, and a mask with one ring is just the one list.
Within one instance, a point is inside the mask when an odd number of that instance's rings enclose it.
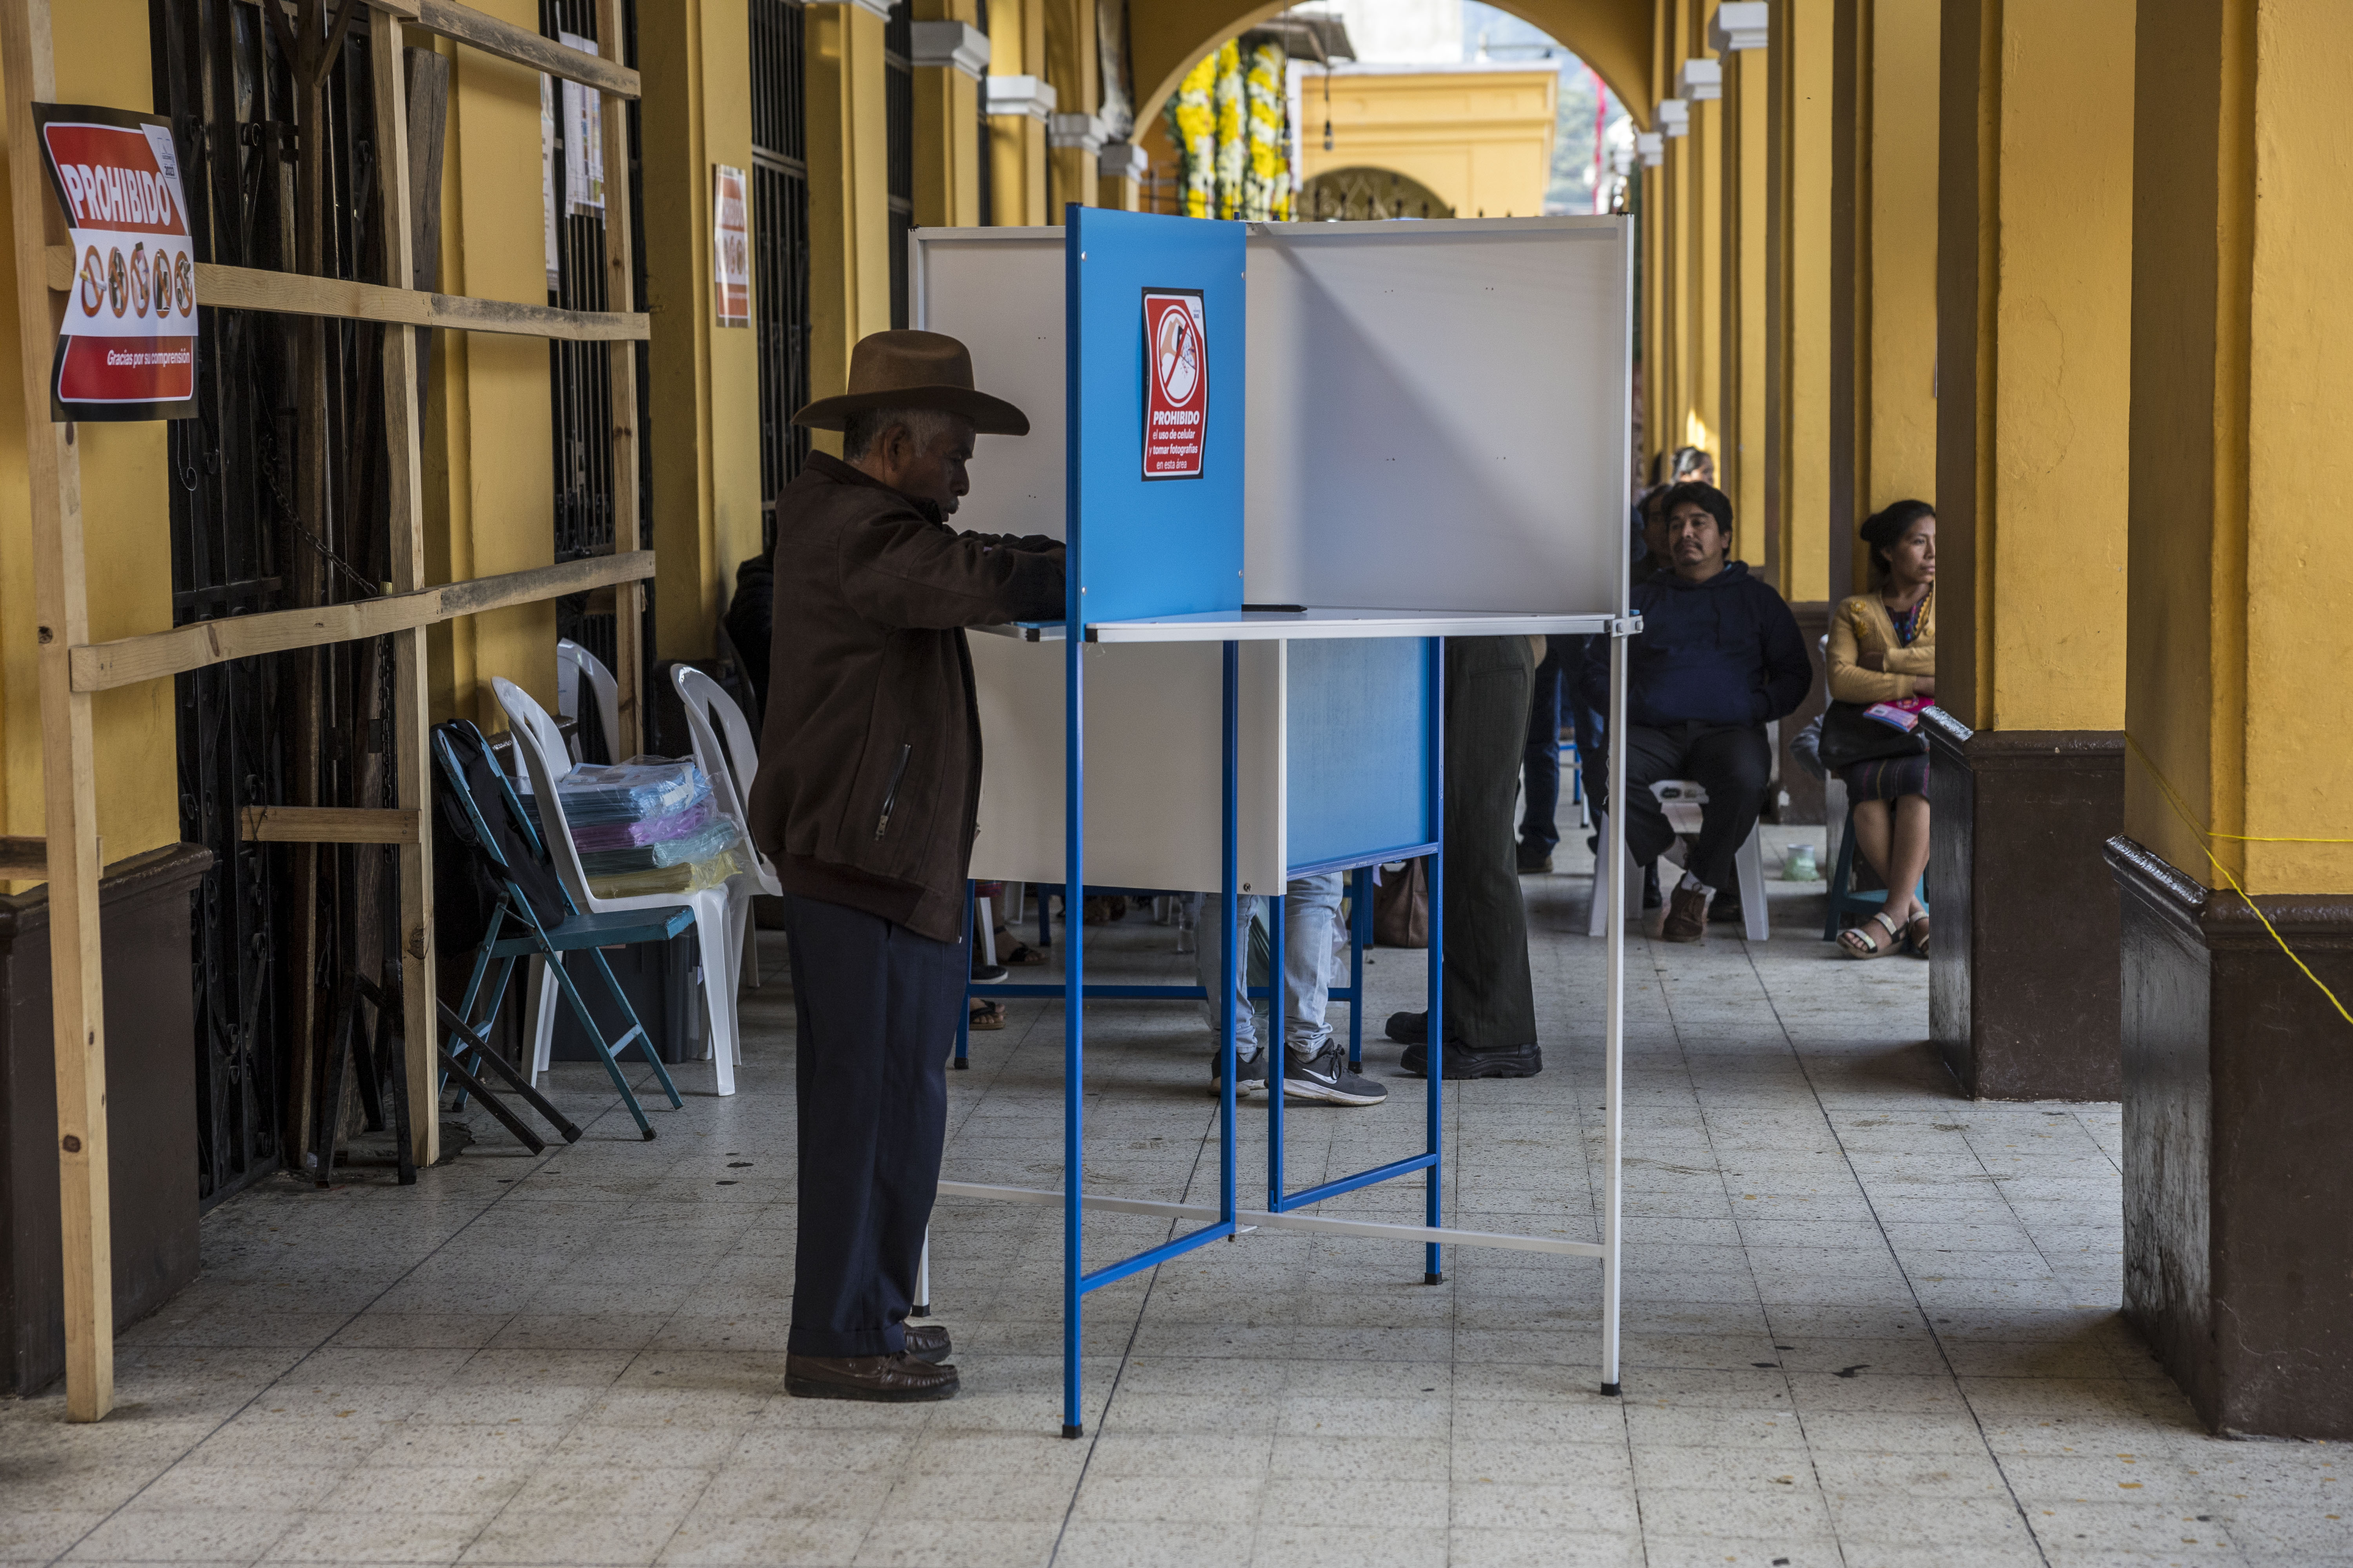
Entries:
{"label": "white lower panel of the voting booth, below the tabletop", "polygon": [[[1061,882],[1061,642],[972,637],[981,703],[981,882]],[[1224,649],[1087,646],[1087,882],[1214,893],[1224,882]],[[1282,886],[1282,644],[1240,651],[1240,865]]]}

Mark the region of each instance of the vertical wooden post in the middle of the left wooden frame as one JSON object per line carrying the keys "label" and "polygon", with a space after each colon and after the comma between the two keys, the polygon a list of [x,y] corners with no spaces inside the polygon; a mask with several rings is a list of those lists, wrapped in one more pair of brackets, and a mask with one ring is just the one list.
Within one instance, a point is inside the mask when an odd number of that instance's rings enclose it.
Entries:
{"label": "vertical wooden post in the middle of the left wooden frame", "polygon": [[[376,146],[386,155],[376,183],[384,235],[384,277],[400,289],[416,287],[414,195],[409,190],[409,108],[400,49],[400,24],[369,16],[367,56],[374,68]],[[435,146],[435,153],[440,148]],[[393,531],[393,590],[419,592],[426,583],[424,433],[419,418],[421,346],[431,339],[407,329],[384,331],[384,447],[386,512]],[[433,717],[426,701],[426,632],[412,628],[393,637],[393,783],[400,809],[424,820],[433,799]],[[431,835],[400,846],[400,1051],[409,1079],[409,1157],[419,1171],[440,1161],[440,994],[433,973],[433,849]],[[388,976],[386,976],[388,978]]]}

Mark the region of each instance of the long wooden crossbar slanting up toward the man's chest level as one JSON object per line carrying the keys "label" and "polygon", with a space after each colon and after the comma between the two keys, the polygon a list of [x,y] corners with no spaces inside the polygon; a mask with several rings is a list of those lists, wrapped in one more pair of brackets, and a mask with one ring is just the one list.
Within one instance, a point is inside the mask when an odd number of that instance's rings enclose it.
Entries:
{"label": "long wooden crossbar slanting up toward the man's chest level", "polygon": [[[398,534],[393,543],[400,543]],[[419,548],[421,557],[424,550]],[[398,550],[393,564],[398,571]],[[285,654],[332,642],[358,642],[360,637],[386,637],[391,632],[456,621],[459,616],[508,609],[511,604],[539,604],[541,599],[560,599],[567,592],[638,583],[649,576],[654,576],[652,550],[591,555],[555,567],[532,567],[529,571],[508,571],[468,583],[393,592],[381,599],[195,621],[176,625],[169,632],[75,644],[71,649],[73,691],[111,691],[115,686],[162,679],[165,675],[186,675],[188,670],[202,670],[231,658],[252,658],[254,654]],[[68,649],[59,651],[66,654]]]}

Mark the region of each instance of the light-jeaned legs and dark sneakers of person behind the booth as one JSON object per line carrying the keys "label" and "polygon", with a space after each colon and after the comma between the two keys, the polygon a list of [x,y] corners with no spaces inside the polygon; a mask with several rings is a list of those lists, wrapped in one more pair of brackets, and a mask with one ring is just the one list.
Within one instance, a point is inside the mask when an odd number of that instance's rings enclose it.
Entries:
{"label": "light-jeaned legs and dark sneakers of person behind the booth", "polygon": [[[1332,992],[1332,933],[1339,926],[1341,875],[1294,877],[1282,889],[1282,1093],[1292,1100],[1322,1100],[1325,1105],[1379,1105],[1388,1091],[1348,1067],[1348,1051],[1332,1037],[1325,1020],[1325,999]],[[1235,898],[1233,940],[1240,952],[1249,952],[1249,922],[1266,900],[1247,893]],[[1214,926],[1219,900],[1202,900],[1202,919]],[[1193,966],[1200,987],[1207,992],[1202,1009],[1209,1016],[1209,1034],[1221,1023],[1219,1009],[1219,947],[1214,929],[1195,933]],[[1259,1016],[1249,1006],[1249,964],[1233,971],[1233,1093],[1266,1093],[1268,1060],[1259,1046]],[[1224,1088],[1226,1053],[1219,1046],[1209,1053],[1209,1091]]]}

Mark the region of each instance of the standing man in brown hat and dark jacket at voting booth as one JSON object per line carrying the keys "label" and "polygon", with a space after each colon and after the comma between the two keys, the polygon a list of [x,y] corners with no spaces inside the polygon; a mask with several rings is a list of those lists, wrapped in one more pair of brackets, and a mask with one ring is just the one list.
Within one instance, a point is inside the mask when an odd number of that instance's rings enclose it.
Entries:
{"label": "standing man in brown hat and dark jacket at voting booth", "polygon": [[976,435],[1028,435],[936,331],[878,331],[840,430],[776,496],[776,609],[751,827],[784,884],[800,1018],[800,1241],[786,1389],[948,1399],[948,1331],[906,1326],[969,973],[981,797],[967,625],[1059,621],[1061,543],[958,534]]}

